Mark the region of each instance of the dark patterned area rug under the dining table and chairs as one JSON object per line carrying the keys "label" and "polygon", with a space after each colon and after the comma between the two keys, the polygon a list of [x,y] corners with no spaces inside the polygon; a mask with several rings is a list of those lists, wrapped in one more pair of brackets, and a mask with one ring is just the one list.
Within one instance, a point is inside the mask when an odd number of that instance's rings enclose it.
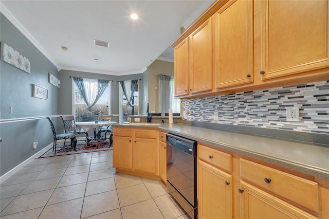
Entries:
{"label": "dark patterned area rug under the dining table and chairs", "polygon": [[46,153],[44,153],[38,158],[63,156],[69,154],[81,154],[81,153],[89,153],[96,151],[108,151],[108,150],[112,150],[112,147],[109,148],[109,144],[102,144],[99,145],[98,147],[95,147],[93,145],[86,146],[86,143],[84,141],[83,142],[81,141],[81,142],[77,142],[76,149],[77,151],[71,148],[71,145],[69,143],[66,143],[65,147],[63,147],[63,144],[57,144],[56,155],[54,155],[54,151],[52,151],[52,148],[50,148]]}

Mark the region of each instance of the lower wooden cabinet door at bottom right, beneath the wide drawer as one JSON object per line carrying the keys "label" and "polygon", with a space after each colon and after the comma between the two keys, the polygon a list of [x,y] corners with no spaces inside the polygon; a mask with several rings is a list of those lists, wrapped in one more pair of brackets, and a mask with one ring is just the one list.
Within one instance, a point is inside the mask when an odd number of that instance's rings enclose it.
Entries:
{"label": "lower wooden cabinet door at bottom right, beneath the wide drawer", "polygon": [[242,180],[240,182],[240,218],[316,218]]}

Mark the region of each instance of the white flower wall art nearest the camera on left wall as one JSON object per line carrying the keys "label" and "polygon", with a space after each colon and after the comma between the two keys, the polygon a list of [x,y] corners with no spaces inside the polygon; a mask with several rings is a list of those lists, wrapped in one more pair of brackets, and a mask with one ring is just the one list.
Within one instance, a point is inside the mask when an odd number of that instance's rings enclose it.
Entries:
{"label": "white flower wall art nearest the camera on left wall", "polygon": [[1,59],[28,74],[31,73],[31,63],[29,59],[5,43],[1,43]]}

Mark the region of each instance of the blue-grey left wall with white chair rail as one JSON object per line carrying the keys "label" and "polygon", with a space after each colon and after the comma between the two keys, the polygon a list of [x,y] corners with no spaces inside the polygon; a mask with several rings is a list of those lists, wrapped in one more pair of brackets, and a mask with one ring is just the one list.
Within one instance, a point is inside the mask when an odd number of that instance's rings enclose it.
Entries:
{"label": "blue-grey left wall with white chair rail", "polygon": [[[31,63],[31,74],[4,62],[0,62],[0,110],[1,119],[17,119],[57,115],[59,88],[48,83],[48,72],[58,77],[54,66],[7,18],[1,14],[1,43],[14,48]],[[51,42],[49,42],[51,43]],[[33,84],[48,89],[48,99],[32,97]],[[13,114],[9,114],[9,107]],[[58,123],[54,118],[53,122]],[[3,175],[33,154],[52,143],[50,124],[46,119],[0,124],[0,173]],[[38,148],[32,143],[38,140]]]}

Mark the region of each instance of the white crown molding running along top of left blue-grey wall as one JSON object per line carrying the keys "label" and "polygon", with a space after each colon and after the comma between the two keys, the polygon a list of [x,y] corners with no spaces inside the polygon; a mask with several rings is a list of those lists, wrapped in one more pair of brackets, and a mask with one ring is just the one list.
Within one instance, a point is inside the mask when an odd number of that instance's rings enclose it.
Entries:
{"label": "white crown molding running along top of left blue-grey wall", "polygon": [[54,66],[60,71],[61,67],[56,61],[49,55],[48,52],[33,38],[33,36],[23,27],[23,25],[17,21],[17,19],[11,14],[11,12],[0,2],[0,12],[16,27]]}

